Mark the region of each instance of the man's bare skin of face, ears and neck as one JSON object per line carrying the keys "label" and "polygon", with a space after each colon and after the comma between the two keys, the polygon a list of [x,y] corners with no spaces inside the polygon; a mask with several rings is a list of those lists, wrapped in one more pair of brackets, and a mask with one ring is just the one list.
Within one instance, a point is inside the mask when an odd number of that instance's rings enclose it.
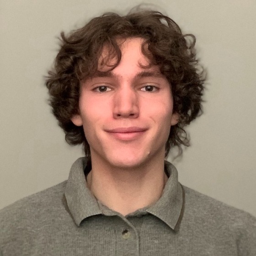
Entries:
{"label": "man's bare skin of face, ears and neck", "polygon": [[[91,149],[87,186],[101,203],[124,216],[160,198],[168,179],[165,143],[178,122],[170,84],[159,67],[140,66],[149,64],[142,43],[142,38],[120,41],[120,64],[107,75],[81,82],[80,114],[71,119],[83,126]],[[101,72],[107,71],[107,53],[105,46]]]}

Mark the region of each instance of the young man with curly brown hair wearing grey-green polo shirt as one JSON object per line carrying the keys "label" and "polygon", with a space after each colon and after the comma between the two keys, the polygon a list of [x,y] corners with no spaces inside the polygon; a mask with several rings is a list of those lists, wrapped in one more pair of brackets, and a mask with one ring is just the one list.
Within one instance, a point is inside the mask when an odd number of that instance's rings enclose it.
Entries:
{"label": "young man with curly brown hair wearing grey-green polo shirt", "polygon": [[256,219],[182,186],[165,161],[188,145],[203,80],[194,37],[158,12],[62,34],[46,85],[85,157],[68,181],[1,211],[1,255],[256,255]]}

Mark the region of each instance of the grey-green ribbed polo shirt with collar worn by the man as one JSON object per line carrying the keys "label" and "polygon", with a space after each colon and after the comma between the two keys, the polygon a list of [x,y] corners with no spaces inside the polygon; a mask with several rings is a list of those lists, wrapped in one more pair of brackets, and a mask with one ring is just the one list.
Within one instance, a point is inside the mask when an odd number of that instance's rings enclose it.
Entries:
{"label": "grey-green ribbed polo shirt with collar worn by the man", "polygon": [[170,163],[160,199],[123,216],[91,194],[86,161],[0,211],[1,256],[256,256],[256,218],[181,186]]}

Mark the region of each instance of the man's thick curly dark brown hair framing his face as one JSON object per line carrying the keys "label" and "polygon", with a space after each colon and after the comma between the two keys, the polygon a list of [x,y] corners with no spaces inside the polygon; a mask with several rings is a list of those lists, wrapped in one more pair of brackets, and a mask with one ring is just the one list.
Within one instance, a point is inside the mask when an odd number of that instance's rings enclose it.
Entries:
{"label": "man's thick curly dark brown hair framing his face", "polygon": [[117,62],[109,66],[109,70],[114,69],[122,57],[117,38],[128,37],[144,38],[143,54],[151,65],[159,65],[160,72],[170,82],[173,111],[178,113],[179,122],[171,127],[165,156],[173,146],[178,146],[181,153],[181,145],[189,145],[184,127],[202,112],[205,73],[196,59],[195,37],[183,35],[175,21],[157,11],[139,11],[126,16],[106,13],[68,37],[62,32],[54,69],[46,79],[53,114],[65,132],[66,141],[72,145],[83,143],[85,155],[90,157],[83,128],[70,120],[79,113],[80,81],[96,73],[106,44],[112,49],[109,57],[117,57]]}

